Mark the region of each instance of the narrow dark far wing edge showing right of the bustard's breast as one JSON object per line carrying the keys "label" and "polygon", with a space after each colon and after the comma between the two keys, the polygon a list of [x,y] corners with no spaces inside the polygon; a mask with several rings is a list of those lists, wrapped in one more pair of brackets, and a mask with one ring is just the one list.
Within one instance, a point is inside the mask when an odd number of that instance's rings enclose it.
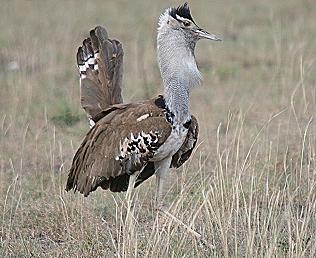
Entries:
{"label": "narrow dark far wing edge showing right of the bustard's breast", "polygon": [[189,159],[196,145],[198,134],[199,125],[197,119],[192,116],[187,137],[178,152],[172,156],[171,167],[178,168]]}

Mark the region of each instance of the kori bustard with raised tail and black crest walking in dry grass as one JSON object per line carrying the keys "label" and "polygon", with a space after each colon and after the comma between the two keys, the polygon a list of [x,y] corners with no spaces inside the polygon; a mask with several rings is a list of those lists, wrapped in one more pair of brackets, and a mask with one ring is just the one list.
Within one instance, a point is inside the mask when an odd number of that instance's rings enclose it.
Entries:
{"label": "kori bustard with raised tail and black crest walking in dry grass", "polygon": [[91,129],[77,150],[66,190],[88,196],[98,187],[112,192],[137,187],[155,174],[157,208],[163,206],[170,167],[191,155],[198,123],[189,111],[189,93],[201,82],[194,49],[200,39],[220,40],[193,21],[187,3],[161,14],[157,56],[164,94],[123,103],[123,49],[96,27],[77,53],[81,105]]}

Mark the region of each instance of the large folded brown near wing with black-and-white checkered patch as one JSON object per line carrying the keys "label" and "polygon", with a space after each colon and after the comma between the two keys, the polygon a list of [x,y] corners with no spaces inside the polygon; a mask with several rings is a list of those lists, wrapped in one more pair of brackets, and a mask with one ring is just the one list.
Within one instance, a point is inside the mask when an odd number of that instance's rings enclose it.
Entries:
{"label": "large folded brown near wing with black-and-white checkered patch", "polygon": [[118,105],[101,118],[73,159],[66,190],[85,196],[98,186],[125,191],[129,175],[146,166],[171,132],[165,110],[154,102]]}

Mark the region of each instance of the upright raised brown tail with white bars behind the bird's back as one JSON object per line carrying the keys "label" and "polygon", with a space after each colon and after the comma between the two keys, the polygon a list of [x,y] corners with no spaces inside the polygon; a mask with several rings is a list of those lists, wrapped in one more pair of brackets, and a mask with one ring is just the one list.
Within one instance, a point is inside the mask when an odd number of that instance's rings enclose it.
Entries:
{"label": "upright raised brown tail with white bars behind the bird's back", "polygon": [[110,105],[122,103],[123,48],[103,27],[90,31],[77,52],[81,106],[94,120]]}

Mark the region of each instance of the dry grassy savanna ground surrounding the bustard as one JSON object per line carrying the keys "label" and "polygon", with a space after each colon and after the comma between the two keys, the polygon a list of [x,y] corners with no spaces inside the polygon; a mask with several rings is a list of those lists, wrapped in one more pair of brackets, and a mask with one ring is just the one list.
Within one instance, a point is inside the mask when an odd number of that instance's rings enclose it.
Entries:
{"label": "dry grassy savanna ground surrounding the bustard", "polygon": [[0,257],[316,256],[314,0],[191,2],[224,41],[197,45],[199,144],[166,203],[213,249],[157,216],[154,178],[128,214],[125,194],[64,191],[88,130],[77,46],[105,25],[123,42],[125,101],[154,96],[157,19],[180,2],[0,3]]}

